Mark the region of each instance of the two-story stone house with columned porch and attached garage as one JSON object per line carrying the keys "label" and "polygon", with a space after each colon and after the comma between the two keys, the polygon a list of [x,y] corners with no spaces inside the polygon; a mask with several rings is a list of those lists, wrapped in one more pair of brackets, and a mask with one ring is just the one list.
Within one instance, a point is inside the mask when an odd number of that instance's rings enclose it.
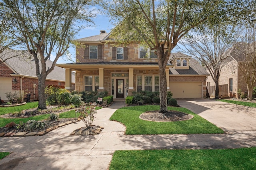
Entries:
{"label": "two-story stone house with columned porch and attached garage", "polygon": [[[118,45],[111,34],[77,40],[76,63],[57,64],[66,69],[66,84],[71,71],[76,71],[76,90],[107,91],[114,98],[126,98],[136,91],[159,91],[159,67],[154,51],[133,42]],[[206,97],[208,73],[198,62],[181,53],[166,66],[167,90],[174,98]]]}

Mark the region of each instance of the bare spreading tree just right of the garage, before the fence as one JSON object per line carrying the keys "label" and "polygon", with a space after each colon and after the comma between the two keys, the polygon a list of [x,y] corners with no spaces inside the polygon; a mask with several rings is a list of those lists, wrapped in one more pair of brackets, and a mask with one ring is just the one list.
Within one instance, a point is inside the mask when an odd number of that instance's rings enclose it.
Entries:
{"label": "bare spreading tree just right of the garage, before the fence", "polygon": [[236,50],[232,46],[241,33],[239,27],[225,24],[204,25],[203,29],[193,30],[180,46],[184,53],[198,59],[210,72],[215,82],[215,98],[219,96],[221,70],[232,59],[229,54]]}

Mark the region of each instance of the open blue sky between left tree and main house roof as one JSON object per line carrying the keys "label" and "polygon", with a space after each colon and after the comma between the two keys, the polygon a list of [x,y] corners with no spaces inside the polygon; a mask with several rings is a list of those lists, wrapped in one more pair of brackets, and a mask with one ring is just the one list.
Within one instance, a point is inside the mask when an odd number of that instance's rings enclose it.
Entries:
{"label": "open blue sky between left tree and main house roof", "polygon": [[[109,22],[109,18],[107,16],[103,16],[101,14],[97,14],[96,18],[93,19],[95,22],[95,27],[86,27],[82,29],[77,35],[76,39],[84,38],[84,37],[90,37],[93,35],[99,35],[100,30],[105,30],[107,33],[110,32],[112,25]],[[70,47],[69,52],[71,54],[72,61],[75,61],[75,55],[76,55],[76,49],[74,47]],[[52,53],[52,59],[54,59],[54,53]],[[66,57],[65,57],[66,58]],[[57,64],[64,64],[64,63],[72,63],[71,61],[65,59],[63,57],[60,57],[57,61]],[[52,60],[51,59],[51,60]]]}

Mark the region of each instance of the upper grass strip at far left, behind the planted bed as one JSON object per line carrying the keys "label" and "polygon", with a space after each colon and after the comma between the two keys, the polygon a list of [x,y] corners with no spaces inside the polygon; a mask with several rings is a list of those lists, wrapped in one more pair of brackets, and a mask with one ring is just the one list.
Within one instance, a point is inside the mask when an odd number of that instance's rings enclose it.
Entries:
{"label": "upper grass strip at far left, behind the planted bed", "polygon": [[38,102],[29,102],[21,106],[0,107],[0,115],[4,115],[6,113],[13,113],[14,111],[22,111],[25,109],[36,108],[36,107],[38,107]]}

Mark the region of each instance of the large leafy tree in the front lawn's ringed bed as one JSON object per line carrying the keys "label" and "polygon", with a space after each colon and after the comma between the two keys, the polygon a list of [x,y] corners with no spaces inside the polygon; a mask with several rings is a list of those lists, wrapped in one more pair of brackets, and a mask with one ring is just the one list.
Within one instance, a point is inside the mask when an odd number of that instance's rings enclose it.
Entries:
{"label": "large leafy tree in the front lawn's ringed bed", "polygon": [[[237,1],[238,5],[243,5]],[[116,23],[112,36],[120,43],[139,41],[156,50],[160,73],[160,112],[167,111],[165,68],[171,51],[191,29],[228,18],[233,2],[223,0],[99,0]]]}

